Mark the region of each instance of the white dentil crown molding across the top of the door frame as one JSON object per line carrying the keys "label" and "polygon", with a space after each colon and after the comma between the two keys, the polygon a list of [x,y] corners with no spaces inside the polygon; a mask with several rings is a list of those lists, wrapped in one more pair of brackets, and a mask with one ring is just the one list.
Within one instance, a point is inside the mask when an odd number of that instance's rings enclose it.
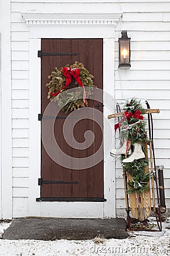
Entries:
{"label": "white dentil crown molding across the top of the door frame", "polygon": [[116,26],[122,13],[22,13],[28,26],[100,25]]}

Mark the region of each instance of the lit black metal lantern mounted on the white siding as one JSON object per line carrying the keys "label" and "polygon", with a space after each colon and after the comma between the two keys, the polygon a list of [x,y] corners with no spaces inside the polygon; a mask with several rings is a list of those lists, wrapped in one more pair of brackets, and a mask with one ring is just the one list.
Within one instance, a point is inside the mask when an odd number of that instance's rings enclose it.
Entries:
{"label": "lit black metal lantern mounted on the white siding", "polygon": [[122,37],[118,39],[119,65],[118,67],[130,67],[130,38],[127,31],[121,32]]}

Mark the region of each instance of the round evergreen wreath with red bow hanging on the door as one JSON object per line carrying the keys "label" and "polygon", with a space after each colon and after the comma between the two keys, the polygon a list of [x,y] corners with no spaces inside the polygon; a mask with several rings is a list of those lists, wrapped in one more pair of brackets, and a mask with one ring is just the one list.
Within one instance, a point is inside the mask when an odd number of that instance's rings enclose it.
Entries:
{"label": "round evergreen wreath with red bow hanging on the door", "polygon": [[[75,85],[80,85],[81,89],[74,92],[68,90],[71,78],[74,77]],[[48,76],[49,83],[46,84],[49,88],[48,98],[50,101],[56,101],[59,108],[63,111],[75,110],[88,106],[87,98],[92,94],[94,85],[94,76],[84,67],[83,63],[75,61],[73,65],[65,65],[65,67],[55,67],[51,75]],[[64,97],[62,92],[66,92]]]}

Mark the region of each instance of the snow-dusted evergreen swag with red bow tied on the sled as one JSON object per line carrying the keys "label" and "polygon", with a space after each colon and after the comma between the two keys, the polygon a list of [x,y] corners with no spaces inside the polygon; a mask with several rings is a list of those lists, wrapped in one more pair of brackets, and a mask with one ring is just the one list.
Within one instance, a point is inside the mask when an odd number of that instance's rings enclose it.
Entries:
{"label": "snow-dusted evergreen swag with red bow tied on the sled", "polygon": [[[124,141],[130,142],[131,149],[133,145],[139,143],[142,145],[142,151],[145,152],[145,144],[148,143],[147,131],[145,130],[146,123],[143,121],[145,109],[142,108],[140,101],[135,98],[130,102],[126,102],[124,106],[124,118],[115,125],[121,127],[120,139],[121,143]],[[132,175],[132,180],[128,181],[128,193],[142,193],[148,191],[150,186],[148,181],[151,179],[151,172],[145,173],[145,168],[148,165],[148,160],[134,159],[133,162],[124,163],[125,156],[122,155],[121,161],[124,171]]]}

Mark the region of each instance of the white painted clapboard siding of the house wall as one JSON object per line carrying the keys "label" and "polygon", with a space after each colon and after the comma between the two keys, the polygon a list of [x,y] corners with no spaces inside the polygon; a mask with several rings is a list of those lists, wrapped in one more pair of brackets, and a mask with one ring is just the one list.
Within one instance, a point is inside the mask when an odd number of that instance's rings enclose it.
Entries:
{"label": "white painted clapboard siding of the house wall", "polygon": [[[29,31],[29,27],[20,13],[53,13],[54,10],[57,10],[58,13],[63,13],[63,11],[71,13],[72,10],[74,13],[93,13],[94,11],[98,13],[123,13],[115,28],[115,44],[113,46],[113,48],[115,47],[115,86],[113,86],[115,87],[116,100],[133,96],[147,98],[151,108],[160,109],[160,114],[154,115],[156,164],[164,164],[165,166],[165,196],[167,207],[170,208],[170,1],[75,0],[74,3],[76,3],[73,6],[70,4],[70,0],[57,2],[55,0],[11,0],[12,91],[7,90],[9,93],[12,92],[12,217],[24,217],[30,213],[30,209],[28,210],[28,184],[30,184],[28,177],[35,170],[28,168],[29,131],[31,128],[31,123],[29,123],[29,38],[33,39],[36,36],[40,38],[42,35],[42,32],[37,33],[36,28]],[[7,28],[9,29],[8,26]],[[53,28],[45,27],[45,30],[46,36],[51,36]],[[122,30],[127,30],[128,36],[131,37],[131,68],[126,71],[118,69],[118,38],[121,36],[120,31]],[[56,33],[62,33],[62,29],[60,30],[58,27]],[[8,36],[7,33],[6,36]],[[7,60],[8,67],[10,67],[10,56]],[[3,72],[6,73],[5,68]],[[7,79],[6,86],[10,86],[10,76]],[[3,90],[3,95],[5,108],[7,105],[5,102],[6,90]],[[7,95],[7,99],[9,98],[10,94]],[[6,106],[8,117],[11,116],[10,104],[11,102]],[[7,127],[9,125],[7,123]],[[10,131],[8,135],[10,135]],[[8,142],[10,143],[10,137],[8,137]],[[5,145],[5,142],[2,145]],[[3,152],[6,156],[8,155],[7,150]],[[9,175],[10,162],[6,164]],[[118,215],[122,215],[125,213],[125,200],[122,170],[118,163],[116,164],[116,177],[116,212]],[[9,187],[10,183],[8,184]],[[10,193],[6,190],[4,193]],[[33,204],[35,201],[32,201],[32,207]],[[29,205],[31,207],[30,202]]]}

